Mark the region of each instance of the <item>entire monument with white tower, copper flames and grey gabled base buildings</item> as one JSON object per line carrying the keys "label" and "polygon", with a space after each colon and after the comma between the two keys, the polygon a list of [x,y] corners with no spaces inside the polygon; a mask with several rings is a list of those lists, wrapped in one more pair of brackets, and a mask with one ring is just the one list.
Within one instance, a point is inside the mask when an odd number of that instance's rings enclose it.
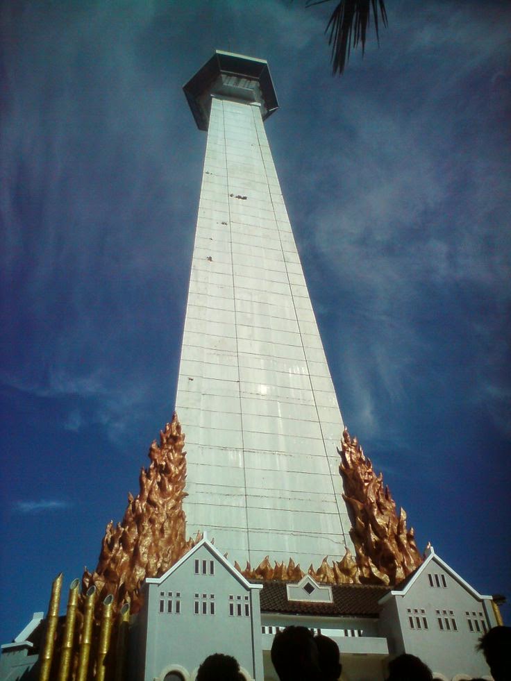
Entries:
{"label": "entire monument with white tower, copper flames and grey gabled base buildings", "polygon": [[353,681],[382,681],[401,653],[438,678],[487,674],[476,643],[502,623],[495,601],[432,546],[420,555],[382,476],[342,434],[265,135],[277,108],[267,62],[217,51],[184,89],[208,146],[176,398],[183,431],[174,414],[151,445],[97,568],[81,594],[70,585],[65,622],[60,574],[46,619],[36,612],[1,646],[0,681],[192,681],[219,652],[245,681],[275,681],[271,646],[290,624],[333,637]]}

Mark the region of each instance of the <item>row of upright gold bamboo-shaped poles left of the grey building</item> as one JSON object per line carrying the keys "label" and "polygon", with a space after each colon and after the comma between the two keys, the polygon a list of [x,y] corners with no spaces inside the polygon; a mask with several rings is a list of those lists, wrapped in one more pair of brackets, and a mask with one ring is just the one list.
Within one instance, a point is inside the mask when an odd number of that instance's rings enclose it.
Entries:
{"label": "row of upright gold bamboo-shaped poles left of the grey building", "polygon": [[39,659],[39,681],[105,681],[124,679],[129,603],[120,609],[117,622],[112,616],[113,596],[96,608],[96,587],[87,589],[78,609],[80,580],[71,582],[64,617],[58,616],[62,573],[53,582]]}

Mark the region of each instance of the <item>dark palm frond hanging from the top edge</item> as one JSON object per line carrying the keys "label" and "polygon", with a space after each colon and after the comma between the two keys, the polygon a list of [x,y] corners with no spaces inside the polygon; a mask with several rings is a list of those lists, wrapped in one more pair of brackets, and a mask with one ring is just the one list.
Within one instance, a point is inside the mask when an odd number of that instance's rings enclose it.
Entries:
{"label": "dark palm frond hanging from the top edge", "polygon": [[[308,0],[306,6],[320,5],[330,0]],[[328,35],[328,44],[332,46],[332,69],[333,73],[341,75],[344,67],[349,62],[351,47],[362,44],[362,55],[365,51],[367,26],[371,18],[371,8],[374,16],[374,28],[376,40],[380,44],[378,32],[378,8],[380,10],[383,26],[388,25],[387,10],[384,0],[340,0],[328,20],[325,33]]]}

